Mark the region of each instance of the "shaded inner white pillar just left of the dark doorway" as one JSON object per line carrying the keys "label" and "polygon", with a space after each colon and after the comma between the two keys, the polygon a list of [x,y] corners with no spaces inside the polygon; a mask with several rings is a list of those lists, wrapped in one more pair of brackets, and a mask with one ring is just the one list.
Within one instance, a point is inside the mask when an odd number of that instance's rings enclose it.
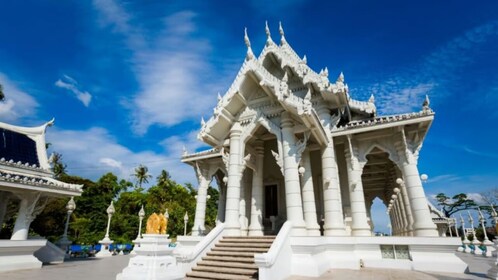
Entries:
{"label": "shaded inner white pillar just left of the dark doorway", "polygon": [[263,163],[264,147],[263,141],[257,141],[256,170],[252,172],[252,195],[251,195],[251,224],[249,225],[249,236],[263,235]]}

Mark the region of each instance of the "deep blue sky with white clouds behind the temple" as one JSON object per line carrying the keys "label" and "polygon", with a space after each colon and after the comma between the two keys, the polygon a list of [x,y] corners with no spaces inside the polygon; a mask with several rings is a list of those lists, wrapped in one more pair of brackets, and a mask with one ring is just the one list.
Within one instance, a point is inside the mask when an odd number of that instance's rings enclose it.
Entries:
{"label": "deep blue sky with white clouds behind the temple", "polygon": [[243,62],[244,27],[259,53],[265,20],[275,41],[282,21],[313,69],[343,71],[380,113],[430,96],[428,195],[498,187],[498,2],[403,2],[2,1],[0,121],[55,117],[48,139],[73,174],[129,179],[143,163],[195,183],[182,147],[202,147],[200,119]]}

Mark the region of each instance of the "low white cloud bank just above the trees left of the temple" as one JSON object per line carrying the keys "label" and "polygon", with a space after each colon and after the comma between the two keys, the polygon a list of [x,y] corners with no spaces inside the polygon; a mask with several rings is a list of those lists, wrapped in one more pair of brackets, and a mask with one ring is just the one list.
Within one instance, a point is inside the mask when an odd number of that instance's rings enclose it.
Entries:
{"label": "low white cloud bank just above the trees left of the temple", "polygon": [[101,127],[88,130],[51,128],[47,132],[47,140],[52,143],[54,151],[63,155],[70,174],[95,180],[106,172],[113,172],[120,178],[133,180],[134,168],[144,164],[154,178],[165,169],[179,183],[197,184],[192,168],[180,161],[183,145],[189,150],[198,145],[190,146],[195,142],[192,133],[166,138],[162,142],[167,143],[165,154],[151,150],[132,151]]}

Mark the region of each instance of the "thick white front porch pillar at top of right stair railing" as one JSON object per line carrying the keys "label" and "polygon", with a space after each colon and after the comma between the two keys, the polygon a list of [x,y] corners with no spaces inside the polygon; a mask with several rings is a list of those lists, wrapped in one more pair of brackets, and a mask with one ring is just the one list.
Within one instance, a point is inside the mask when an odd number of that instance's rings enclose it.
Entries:
{"label": "thick white front porch pillar at top of right stair railing", "polygon": [[292,222],[292,235],[305,236],[306,224],[303,217],[301,201],[301,186],[297,162],[296,136],[294,124],[288,112],[282,113],[282,152],[284,157],[285,202],[287,206],[287,220]]}

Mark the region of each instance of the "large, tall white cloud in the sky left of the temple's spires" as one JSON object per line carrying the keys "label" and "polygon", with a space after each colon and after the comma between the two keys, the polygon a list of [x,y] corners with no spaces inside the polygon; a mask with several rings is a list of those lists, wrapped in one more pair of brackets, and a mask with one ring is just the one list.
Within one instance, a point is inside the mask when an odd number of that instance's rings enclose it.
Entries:
{"label": "large, tall white cloud in the sky left of the temple's spires", "polygon": [[210,45],[195,34],[195,13],[169,15],[157,36],[144,43],[140,34],[146,30],[131,24],[132,14],[125,7],[111,0],[94,1],[94,7],[106,26],[114,26],[113,31],[124,37],[132,52],[132,71],[140,89],[126,106],[132,111],[135,133],[143,135],[151,125],[198,120],[209,112],[216,102],[216,91],[210,91],[214,82],[205,82],[212,69]]}

